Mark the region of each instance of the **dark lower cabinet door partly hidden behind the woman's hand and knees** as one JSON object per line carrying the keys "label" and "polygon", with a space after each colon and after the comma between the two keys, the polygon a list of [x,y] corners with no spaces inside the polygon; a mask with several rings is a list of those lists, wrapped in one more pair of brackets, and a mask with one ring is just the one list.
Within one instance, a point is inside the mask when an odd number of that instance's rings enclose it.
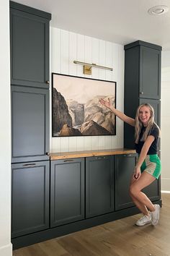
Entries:
{"label": "dark lower cabinet door partly hidden behind the woman's hand and knees", "polygon": [[115,210],[134,205],[129,195],[129,186],[136,156],[136,154],[115,155]]}

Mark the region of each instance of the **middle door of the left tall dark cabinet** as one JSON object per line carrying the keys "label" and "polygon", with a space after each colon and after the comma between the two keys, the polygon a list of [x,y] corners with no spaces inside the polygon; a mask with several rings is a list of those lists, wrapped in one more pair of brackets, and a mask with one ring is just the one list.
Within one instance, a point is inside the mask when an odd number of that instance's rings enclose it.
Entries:
{"label": "middle door of the left tall dark cabinet", "polygon": [[12,86],[12,163],[48,160],[49,90]]}

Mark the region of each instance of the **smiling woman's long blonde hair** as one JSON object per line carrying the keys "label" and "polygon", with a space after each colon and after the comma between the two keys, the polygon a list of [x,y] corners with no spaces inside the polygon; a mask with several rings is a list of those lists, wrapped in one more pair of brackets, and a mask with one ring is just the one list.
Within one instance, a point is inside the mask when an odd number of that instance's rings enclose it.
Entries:
{"label": "smiling woman's long blonde hair", "polygon": [[[140,106],[138,106],[138,108],[137,108],[136,115],[135,115],[135,143],[139,142],[140,132],[141,132],[141,129],[143,127],[143,123],[139,119],[139,111],[140,111],[140,108],[142,108],[143,106],[146,106],[147,108],[149,108],[151,116],[150,116],[150,119],[148,121],[148,126],[146,127],[145,132],[143,132],[143,136],[141,137],[140,140],[141,141],[146,141],[146,138],[151,133],[151,128],[153,127],[153,124],[155,124],[156,127],[158,127],[158,125],[154,121],[154,109],[153,109],[153,107],[148,103],[140,104]],[[160,137],[159,127],[158,127],[158,130],[159,130],[158,137]]]}

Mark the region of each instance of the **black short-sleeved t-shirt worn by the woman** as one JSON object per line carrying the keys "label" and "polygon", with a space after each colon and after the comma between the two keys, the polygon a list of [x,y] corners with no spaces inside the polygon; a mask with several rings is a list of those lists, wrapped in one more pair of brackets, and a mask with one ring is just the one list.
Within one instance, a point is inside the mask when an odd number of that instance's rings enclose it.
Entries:
{"label": "black short-sleeved t-shirt worn by the woman", "polygon": [[[138,154],[140,154],[143,144],[145,143],[144,141],[140,141],[145,130],[146,130],[146,127],[143,127],[141,129],[138,144],[135,143],[135,150]],[[152,135],[153,137],[155,137],[155,140],[153,140],[153,142],[148,150],[147,155],[155,155],[158,153],[158,139],[159,139],[158,138],[159,130],[158,130],[158,127],[156,127],[156,124],[153,124],[153,127],[151,128],[151,132],[148,133],[148,136],[149,135]]]}

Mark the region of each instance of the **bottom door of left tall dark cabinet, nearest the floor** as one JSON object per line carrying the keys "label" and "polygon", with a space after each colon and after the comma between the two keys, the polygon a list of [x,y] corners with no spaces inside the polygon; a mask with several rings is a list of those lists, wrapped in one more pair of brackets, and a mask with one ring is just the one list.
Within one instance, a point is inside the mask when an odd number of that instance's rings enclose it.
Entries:
{"label": "bottom door of left tall dark cabinet, nearest the floor", "polygon": [[12,238],[49,228],[49,161],[12,164]]}

